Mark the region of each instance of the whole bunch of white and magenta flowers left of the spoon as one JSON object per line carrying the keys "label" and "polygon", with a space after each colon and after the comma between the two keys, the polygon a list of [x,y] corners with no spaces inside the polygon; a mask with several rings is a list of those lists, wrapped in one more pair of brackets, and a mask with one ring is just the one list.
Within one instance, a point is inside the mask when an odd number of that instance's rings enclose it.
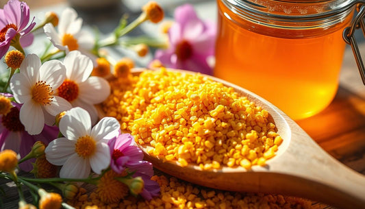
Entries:
{"label": "whole bunch of white and magenta flowers left of the spoon", "polygon": [[[149,47],[165,48],[156,51],[158,61],[151,65],[211,73],[207,58],[213,56],[215,27],[201,21],[191,5],[177,8],[175,22],[164,25],[168,42],[123,40],[141,23],[162,19],[164,11],[151,1],[136,20],[123,17],[110,37],[99,40],[83,30],[72,8],[60,18],[49,12],[39,24],[25,2],[10,0],[0,10],[0,58],[8,66],[0,83],[0,177],[16,184],[19,208],[73,208],[64,199],[75,198],[81,183],[95,184],[99,199],[111,204],[129,193],[147,200],[159,195],[152,164],[143,160],[134,137],[121,133],[115,118],[99,119],[95,104],[110,95],[108,77],[123,77],[134,67],[129,58],[112,60],[105,47],[126,47],[139,56]],[[37,55],[25,48],[38,30],[49,44]],[[23,186],[33,203],[25,200]]]}

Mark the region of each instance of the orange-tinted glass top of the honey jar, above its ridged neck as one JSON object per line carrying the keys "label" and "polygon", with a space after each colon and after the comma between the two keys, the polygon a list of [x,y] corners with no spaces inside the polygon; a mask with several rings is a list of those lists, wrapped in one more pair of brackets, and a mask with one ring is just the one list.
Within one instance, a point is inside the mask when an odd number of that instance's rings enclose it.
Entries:
{"label": "orange-tinted glass top of the honey jar, above its ridged neck", "polygon": [[270,19],[323,19],[349,12],[357,0],[221,0],[236,11],[245,11]]}

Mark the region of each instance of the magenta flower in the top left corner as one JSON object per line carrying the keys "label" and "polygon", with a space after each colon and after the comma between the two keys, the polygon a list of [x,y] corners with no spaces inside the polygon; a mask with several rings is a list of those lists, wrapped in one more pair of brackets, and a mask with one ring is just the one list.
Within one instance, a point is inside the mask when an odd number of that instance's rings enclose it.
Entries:
{"label": "magenta flower in the top left corner", "polygon": [[[36,23],[29,23],[29,7],[27,3],[10,0],[3,9],[0,9],[0,58],[8,51],[11,44],[18,48],[18,39],[21,47],[28,47],[34,40],[34,35],[29,33]],[[17,37],[18,36],[18,37]],[[15,40],[12,43],[12,40]]]}

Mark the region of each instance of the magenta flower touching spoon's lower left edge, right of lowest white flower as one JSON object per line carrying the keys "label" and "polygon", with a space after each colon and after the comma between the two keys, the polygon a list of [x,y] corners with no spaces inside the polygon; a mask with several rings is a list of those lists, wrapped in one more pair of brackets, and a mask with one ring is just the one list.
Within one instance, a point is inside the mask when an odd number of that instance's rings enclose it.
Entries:
{"label": "magenta flower touching spoon's lower left edge, right of lowest white flower", "polygon": [[151,199],[160,193],[158,182],[151,180],[153,167],[151,162],[143,160],[142,150],[136,146],[131,134],[121,134],[108,141],[112,162],[110,167],[116,173],[121,173],[125,169],[134,172],[133,177],[142,177],[144,188],[140,195],[144,199]]}

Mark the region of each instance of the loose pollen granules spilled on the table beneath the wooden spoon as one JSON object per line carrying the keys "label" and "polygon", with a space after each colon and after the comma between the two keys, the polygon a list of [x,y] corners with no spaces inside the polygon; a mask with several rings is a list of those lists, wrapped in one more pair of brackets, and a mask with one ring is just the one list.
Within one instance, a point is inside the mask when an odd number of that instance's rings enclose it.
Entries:
{"label": "loose pollen granules spilled on the table beneath the wooden spoon", "polygon": [[103,203],[94,192],[87,194],[82,189],[75,199],[67,203],[76,209],[142,209],[142,208],[216,208],[216,209],[270,209],[270,208],[312,208],[312,203],[299,197],[254,193],[232,193],[194,186],[175,177],[153,176],[160,184],[160,196],[150,201],[129,195],[116,203]]}

